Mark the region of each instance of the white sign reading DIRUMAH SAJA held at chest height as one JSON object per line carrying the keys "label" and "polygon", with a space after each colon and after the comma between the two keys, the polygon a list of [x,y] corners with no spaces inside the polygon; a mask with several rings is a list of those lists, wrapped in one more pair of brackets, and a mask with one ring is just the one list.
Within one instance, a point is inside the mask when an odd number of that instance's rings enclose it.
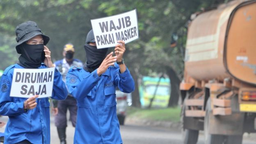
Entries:
{"label": "white sign reading DIRUMAH SAJA held at chest height", "polygon": [[10,96],[38,98],[52,96],[55,68],[48,69],[14,69]]}

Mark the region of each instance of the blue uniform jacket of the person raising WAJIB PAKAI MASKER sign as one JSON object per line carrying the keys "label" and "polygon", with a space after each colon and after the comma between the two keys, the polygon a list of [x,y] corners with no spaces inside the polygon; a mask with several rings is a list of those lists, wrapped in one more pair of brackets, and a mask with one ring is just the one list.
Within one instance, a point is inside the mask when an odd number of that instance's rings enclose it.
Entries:
{"label": "blue uniform jacket of the person raising WAJIB PAKAI MASKER sign", "polygon": [[89,73],[73,67],[66,85],[78,105],[74,144],[122,144],[115,91],[116,87],[125,93],[134,91],[129,70],[120,73],[117,66],[110,66],[98,76],[97,69]]}

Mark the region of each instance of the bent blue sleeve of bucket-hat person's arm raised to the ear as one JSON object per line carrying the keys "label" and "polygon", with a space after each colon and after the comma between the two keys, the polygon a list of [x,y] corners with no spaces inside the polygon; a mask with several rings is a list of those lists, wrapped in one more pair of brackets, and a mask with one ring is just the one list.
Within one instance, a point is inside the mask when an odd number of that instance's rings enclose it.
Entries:
{"label": "bent blue sleeve of bucket-hat person's arm raised to the ear", "polygon": [[66,89],[66,85],[62,80],[62,75],[59,73],[57,69],[55,69],[52,98],[57,100],[64,100],[67,96],[68,90]]}

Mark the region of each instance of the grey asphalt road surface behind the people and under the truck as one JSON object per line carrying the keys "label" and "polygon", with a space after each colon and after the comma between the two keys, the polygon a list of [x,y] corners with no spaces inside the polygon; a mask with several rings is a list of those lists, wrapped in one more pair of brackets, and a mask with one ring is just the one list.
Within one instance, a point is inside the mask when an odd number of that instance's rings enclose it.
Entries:
{"label": "grey asphalt road surface behind the people and under the truck", "polygon": [[[7,121],[7,117],[1,117],[0,121]],[[0,128],[0,132],[4,132]],[[51,144],[59,144],[59,138],[54,125],[54,117],[51,117]],[[182,135],[180,130],[171,128],[143,126],[136,123],[126,122],[125,126],[120,126],[123,144],[182,144]],[[66,130],[67,143],[73,144],[73,135],[75,128],[69,122]],[[256,135],[245,135],[243,144],[256,144]],[[203,144],[203,135],[199,136],[199,142]]]}

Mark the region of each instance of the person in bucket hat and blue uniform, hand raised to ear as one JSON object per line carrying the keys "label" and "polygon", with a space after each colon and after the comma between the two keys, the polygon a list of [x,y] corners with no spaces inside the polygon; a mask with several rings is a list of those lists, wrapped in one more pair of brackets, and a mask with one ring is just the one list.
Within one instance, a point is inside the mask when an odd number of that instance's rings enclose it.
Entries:
{"label": "person in bucket hat and blue uniform, hand raised to ear", "polygon": [[[21,94],[31,94],[30,98],[10,96],[13,82],[48,82],[53,80],[53,89],[50,96],[54,99],[64,100],[68,95],[66,85],[57,69],[53,73],[32,73],[25,76],[14,73],[17,69],[46,69],[53,68],[50,50],[45,46],[50,38],[44,35],[37,23],[27,21],[16,27],[16,51],[21,54],[18,63],[5,69],[0,80],[0,115],[8,116],[9,121],[5,128],[5,144],[50,144],[50,103],[48,97],[38,98],[41,94],[32,85],[29,89],[23,87]],[[53,68],[54,69],[54,68]],[[16,77],[14,77],[16,75]],[[54,75],[54,76],[53,76]],[[31,77],[30,77],[31,76]],[[15,80],[14,80],[15,79]],[[37,79],[37,80],[36,80]],[[17,91],[17,90],[16,90]],[[40,90],[41,91],[41,90]],[[43,93],[46,94],[46,89]],[[48,92],[48,91],[47,91]]]}

